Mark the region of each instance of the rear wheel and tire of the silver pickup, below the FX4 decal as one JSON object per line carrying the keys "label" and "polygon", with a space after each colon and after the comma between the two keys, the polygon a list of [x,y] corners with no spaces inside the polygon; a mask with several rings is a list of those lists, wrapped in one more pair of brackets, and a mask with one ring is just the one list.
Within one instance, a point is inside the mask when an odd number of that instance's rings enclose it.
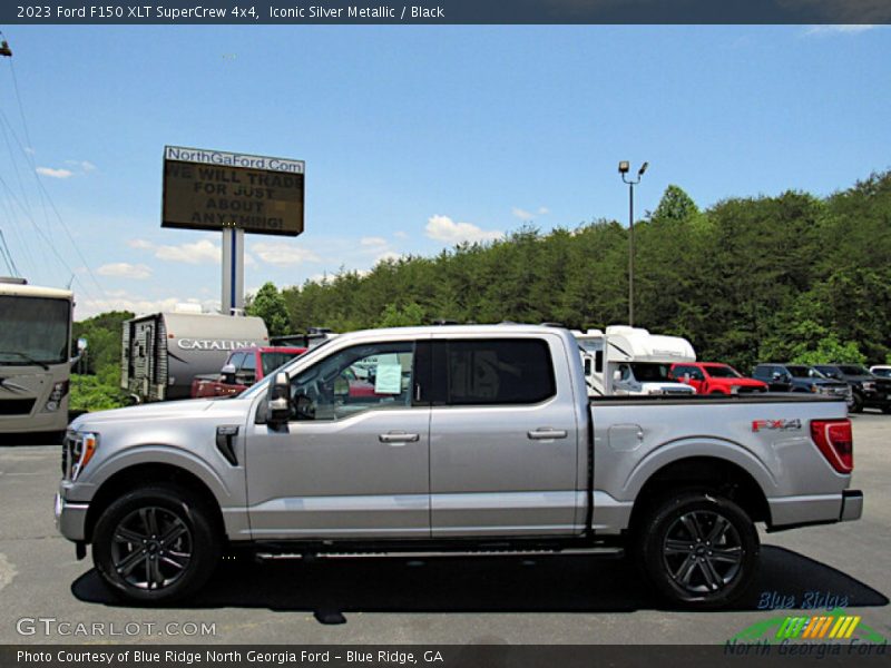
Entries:
{"label": "rear wheel and tire of the silver pickup, below the FX4 decal", "polygon": [[730,606],[757,571],[755,524],[736,503],[711,492],[657,501],[637,536],[638,563],[647,578],[663,597],[686,608]]}

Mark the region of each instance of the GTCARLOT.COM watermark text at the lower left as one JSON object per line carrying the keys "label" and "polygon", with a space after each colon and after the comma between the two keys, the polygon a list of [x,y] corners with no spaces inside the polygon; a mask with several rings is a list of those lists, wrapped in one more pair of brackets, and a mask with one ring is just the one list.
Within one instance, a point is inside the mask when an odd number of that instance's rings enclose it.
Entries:
{"label": "GTCARLOT.COM watermark text at the lower left", "polygon": [[207,637],[216,636],[216,622],[70,621],[56,617],[21,617],[16,621],[16,631],[20,636],[77,638],[133,636]]}

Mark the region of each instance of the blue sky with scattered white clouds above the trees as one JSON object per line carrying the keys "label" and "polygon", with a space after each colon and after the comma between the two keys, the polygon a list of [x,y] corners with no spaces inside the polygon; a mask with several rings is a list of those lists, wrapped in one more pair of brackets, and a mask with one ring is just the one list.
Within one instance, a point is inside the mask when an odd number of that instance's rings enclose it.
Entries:
{"label": "blue sky with scattered white clouds above the trees", "polygon": [[891,168],[890,35],[10,27],[0,229],[31,283],[75,276],[84,318],[219,302],[218,233],[160,228],[165,145],[306,161],[306,232],[248,235],[248,289],[432,255],[525,222],[626,220],[620,159],[650,163],[642,215],[673,183],[703,207],[825,195]]}

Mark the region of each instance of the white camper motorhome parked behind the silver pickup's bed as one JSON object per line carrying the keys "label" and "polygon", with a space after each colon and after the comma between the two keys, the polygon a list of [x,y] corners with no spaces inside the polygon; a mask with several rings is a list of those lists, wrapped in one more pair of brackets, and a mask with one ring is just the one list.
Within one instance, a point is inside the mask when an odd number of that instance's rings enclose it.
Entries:
{"label": "white camper motorhome parked behind the silver pickup's bed", "polygon": [[696,361],[686,338],[627,325],[574,334],[581,348],[590,396],[695,393],[689,385],[668,380],[672,364]]}

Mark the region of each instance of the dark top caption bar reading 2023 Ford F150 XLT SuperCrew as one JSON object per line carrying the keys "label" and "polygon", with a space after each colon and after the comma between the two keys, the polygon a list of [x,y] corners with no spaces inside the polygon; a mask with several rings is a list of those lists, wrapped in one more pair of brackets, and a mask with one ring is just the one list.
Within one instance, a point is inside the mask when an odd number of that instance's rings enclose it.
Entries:
{"label": "dark top caption bar reading 2023 Ford F150 XLT SuperCrew", "polygon": [[875,24],[890,19],[889,0],[56,0],[0,7],[0,24]]}

